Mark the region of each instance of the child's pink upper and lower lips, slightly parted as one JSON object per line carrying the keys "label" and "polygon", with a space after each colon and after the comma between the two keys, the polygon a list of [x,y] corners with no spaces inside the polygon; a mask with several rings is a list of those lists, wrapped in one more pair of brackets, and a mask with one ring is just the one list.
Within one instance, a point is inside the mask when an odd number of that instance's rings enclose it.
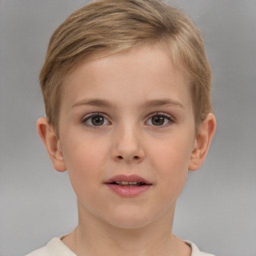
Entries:
{"label": "child's pink upper and lower lips, slightly parted", "polygon": [[[120,186],[117,184],[111,184],[111,182],[114,181],[139,181],[144,182],[145,185],[141,186]],[[118,195],[121,195],[123,197],[133,197],[136,195],[141,194],[142,192],[148,190],[150,186],[152,185],[149,181],[145,180],[144,178],[141,178],[137,175],[116,175],[108,179],[106,182],[104,182],[113,192],[117,193]]]}

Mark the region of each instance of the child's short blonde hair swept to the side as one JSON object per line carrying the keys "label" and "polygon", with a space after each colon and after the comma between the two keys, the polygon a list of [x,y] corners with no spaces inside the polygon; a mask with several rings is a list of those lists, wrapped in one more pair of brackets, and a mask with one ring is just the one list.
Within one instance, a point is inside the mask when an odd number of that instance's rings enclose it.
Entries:
{"label": "child's short blonde hair swept to the side", "polygon": [[195,126],[212,111],[211,68],[202,36],[182,11],[160,0],[96,0],[76,10],[52,34],[39,74],[48,122],[58,131],[65,75],[93,54],[159,43],[188,74]]}

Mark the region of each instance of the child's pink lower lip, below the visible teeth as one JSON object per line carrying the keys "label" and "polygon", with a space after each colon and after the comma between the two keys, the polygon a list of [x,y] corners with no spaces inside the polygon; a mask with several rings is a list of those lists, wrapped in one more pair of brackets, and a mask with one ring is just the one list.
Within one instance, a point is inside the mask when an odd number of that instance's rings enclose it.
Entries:
{"label": "child's pink lower lip, below the visible teeth", "polygon": [[106,185],[115,193],[124,197],[133,197],[139,195],[150,188],[151,185],[142,186],[120,186],[106,183]]}

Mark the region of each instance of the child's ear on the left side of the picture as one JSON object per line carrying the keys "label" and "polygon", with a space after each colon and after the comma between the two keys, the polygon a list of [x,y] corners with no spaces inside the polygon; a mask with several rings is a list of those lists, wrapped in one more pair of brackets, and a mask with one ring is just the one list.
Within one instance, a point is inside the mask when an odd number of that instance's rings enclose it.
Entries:
{"label": "child's ear on the left side of the picture", "polygon": [[57,171],[65,171],[65,161],[62,154],[59,138],[56,136],[52,125],[48,123],[47,118],[41,117],[37,120],[38,134],[46,147],[48,155],[54,168]]}

